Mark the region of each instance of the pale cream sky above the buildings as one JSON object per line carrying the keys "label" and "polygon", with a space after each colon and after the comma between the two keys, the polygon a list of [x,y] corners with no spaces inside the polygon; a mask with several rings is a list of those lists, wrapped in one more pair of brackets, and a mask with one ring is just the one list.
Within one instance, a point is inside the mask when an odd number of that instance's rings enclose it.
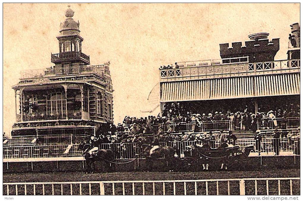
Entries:
{"label": "pale cream sky above the buildings", "polygon": [[[110,61],[114,120],[151,110],[160,65],[219,59],[219,43],[244,42],[268,32],[280,38],[275,60],[286,59],[290,24],[300,23],[300,4],[4,4],[3,131],[15,122],[20,71],[52,66],[67,5],[84,38],[82,52],[92,65]],[[154,88],[154,86],[156,87]],[[153,97],[147,100],[153,90]],[[153,102],[153,103],[152,103]],[[159,109],[159,108],[158,108]]]}

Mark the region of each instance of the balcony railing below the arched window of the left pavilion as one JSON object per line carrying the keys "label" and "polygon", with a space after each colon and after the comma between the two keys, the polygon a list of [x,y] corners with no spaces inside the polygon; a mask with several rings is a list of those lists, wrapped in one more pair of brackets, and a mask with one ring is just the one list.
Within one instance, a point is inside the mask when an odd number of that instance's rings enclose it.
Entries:
{"label": "balcony railing below the arched window of the left pavilion", "polygon": [[[82,119],[82,112],[79,110],[68,110],[67,111],[67,119]],[[63,120],[66,119],[66,111],[62,112],[32,112],[32,113],[23,113],[22,120],[18,118],[17,122],[20,121],[42,121],[42,120]]]}

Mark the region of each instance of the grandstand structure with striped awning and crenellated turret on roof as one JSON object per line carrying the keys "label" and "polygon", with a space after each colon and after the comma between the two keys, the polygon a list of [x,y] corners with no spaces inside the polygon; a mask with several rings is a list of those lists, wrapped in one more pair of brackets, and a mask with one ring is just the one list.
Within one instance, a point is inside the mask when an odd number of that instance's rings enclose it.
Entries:
{"label": "grandstand structure with striped awning and crenellated turret on roof", "polygon": [[268,33],[249,35],[248,41],[220,44],[218,60],[177,62],[160,69],[161,113],[171,103],[197,113],[215,111],[268,112],[286,102],[300,105],[300,26],[291,25],[288,58],[275,60],[279,38]]}

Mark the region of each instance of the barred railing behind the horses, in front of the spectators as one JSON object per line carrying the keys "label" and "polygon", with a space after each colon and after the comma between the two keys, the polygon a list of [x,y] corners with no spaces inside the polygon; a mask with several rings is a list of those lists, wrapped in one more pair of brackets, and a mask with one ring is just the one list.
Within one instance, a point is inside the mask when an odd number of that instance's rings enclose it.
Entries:
{"label": "barred railing behind the horses, in front of the spectators", "polygon": [[[50,141],[51,139],[46,139]],[[72,139],[71,139],[72,140]],[[221,140],[203,141],[168,141],[159,142],[160,146],[171,146],[175,148],[176,155],[184,157],[184,152],[188,146],[208,143],[211,148],[218,148]],[[232,143],[232,141],[231,141]],[[289,138],[263,138],[237,139],[235,145],[244,148],[247,145],[254,145],[255,152],[272,153],[279,155],[280,152],[300,155],[300,140]],[[142,148],[135,142],[100,144],[100,149],[110,149],[114,151],[115,159],[135,159],[142,156]],[[3,158],[48,158],[48,157],[82,157],[83,152],[78,150],[78,144],[69,145],[25,145],[25,146],[3,146]]]}

